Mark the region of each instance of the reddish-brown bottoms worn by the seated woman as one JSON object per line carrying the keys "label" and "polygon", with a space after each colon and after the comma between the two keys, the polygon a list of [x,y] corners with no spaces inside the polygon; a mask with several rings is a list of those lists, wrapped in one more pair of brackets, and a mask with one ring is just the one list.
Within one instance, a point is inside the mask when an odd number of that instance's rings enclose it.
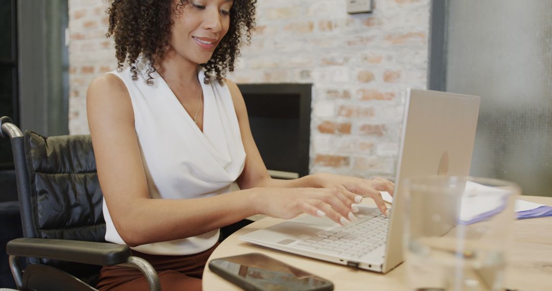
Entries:
{"label": "reddish-brown bottoms worn by the seated woman", "polygon": [[[201,276],[211,249],[186,256],[148,255],[132,250],[132,256],[144,258],[155,268],[161,282],[161,289],[201,290]],[[131,267],[104,266],[100,271],[97,288],[104,290],[149,290],[146,278],[140,270]]]}

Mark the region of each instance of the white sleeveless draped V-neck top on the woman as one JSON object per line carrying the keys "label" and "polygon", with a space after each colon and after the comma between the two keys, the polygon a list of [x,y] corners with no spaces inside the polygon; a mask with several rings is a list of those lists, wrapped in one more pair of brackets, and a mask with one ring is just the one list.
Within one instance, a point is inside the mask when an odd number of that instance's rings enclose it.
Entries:
{"label": "white sleeveless draped V-neck top on the woman", "polygon": [[[148,85],[145,69],[139,72],[137,80],[132,80],[130,68],[109,73],[123,80],[130,94],[150,198],[189,199],[229,192],[245,165],[245,150],[228,86],[216,80],[204,84],[205,72],[198,68],[204,99],[201,132],[160,74],[152,73],[153,84]],[[105,240],[125,244],[105,200],[103,213]],[[132,249],[152,255],[189,255],[210,249],[218,239],[217,229]]]}

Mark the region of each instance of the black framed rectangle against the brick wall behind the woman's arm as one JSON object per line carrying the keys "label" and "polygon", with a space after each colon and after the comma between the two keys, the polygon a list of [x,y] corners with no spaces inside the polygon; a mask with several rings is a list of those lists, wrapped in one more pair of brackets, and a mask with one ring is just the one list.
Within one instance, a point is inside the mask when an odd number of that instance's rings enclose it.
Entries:
{"label": "black framed rectangle against the brick wall behind the woman's arm", "polygon": [[309,174],[312,84],[240,84],[251,132],[272,177]]}

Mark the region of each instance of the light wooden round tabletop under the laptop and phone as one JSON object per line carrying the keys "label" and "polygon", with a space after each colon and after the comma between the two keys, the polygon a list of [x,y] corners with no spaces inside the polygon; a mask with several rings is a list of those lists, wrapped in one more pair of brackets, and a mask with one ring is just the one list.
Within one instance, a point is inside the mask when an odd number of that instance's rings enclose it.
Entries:
{"label": "light wooden round tabletop under the laptop and phone", "polygon": [[[522,196],[522,200],[552,205],[551,197]],[[287,254],[238,240],[238,236],[269,227],[283,219],[264,218],[236,231],[211,254],[213,258],[261,252],[292,266],[329,279],[336,290],[406,290],[406,268],[397,266],[387,274],[359,271],[312,258]],[[552,290],[552,217],[516,220],[506,287],[514,290]],[[203,290],[241,290],[205,267]]]}

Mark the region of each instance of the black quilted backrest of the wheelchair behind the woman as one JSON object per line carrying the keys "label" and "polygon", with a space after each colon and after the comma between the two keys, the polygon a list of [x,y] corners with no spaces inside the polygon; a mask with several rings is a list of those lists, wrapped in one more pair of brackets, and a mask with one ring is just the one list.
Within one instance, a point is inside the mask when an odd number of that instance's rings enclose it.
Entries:
{"label": "black quilted backrest of the wheelchair behind the woman", "polygon": [[[105,221],[89,135],[12,138],[23,235],[104,242]],[[31,258],[86,279],[99,267]]]}

